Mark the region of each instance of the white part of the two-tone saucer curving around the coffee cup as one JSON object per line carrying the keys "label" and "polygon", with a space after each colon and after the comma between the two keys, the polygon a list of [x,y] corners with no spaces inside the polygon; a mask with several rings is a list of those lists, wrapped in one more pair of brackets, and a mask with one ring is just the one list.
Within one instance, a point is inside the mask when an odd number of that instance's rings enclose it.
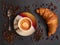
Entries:
{"label": "white part of the two-tone saucer curving around the coffee cup", "polygon": [[29,31],[26,31],[26,32],[23,32],[21,31],[19,28],[18,28],[18,21],[22,18],[22,16],[20,15],[17,15],[15,20],[14,20],[14,29],[16,31],[16,33],[18,35],[21,35],[21,36],[29,36],[31,34],[33,34],[35,32],[35,28],[33,26],[31,26],[31,28],[29,29]]}

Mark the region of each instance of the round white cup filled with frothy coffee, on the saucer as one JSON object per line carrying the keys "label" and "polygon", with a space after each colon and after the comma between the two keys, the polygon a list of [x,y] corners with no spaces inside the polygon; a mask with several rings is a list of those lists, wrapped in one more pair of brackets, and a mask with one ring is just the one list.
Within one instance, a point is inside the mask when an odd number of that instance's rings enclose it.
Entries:
{"label": "round white cup filled with frothy coffee, on the saucer", "polygon": [[[24,22],[26,21],[26,22]],[[28,22],[28,23],[27,23]],[[22,23],[22,24],[21,24]],[[32,21],[30,18],[28,17],[23,17],[21,18],[19,21],[18,21],[18,27],[21,31],[29,31],[29,29],[31,28],[32,26]],[[22,28],[23,27],[23,28]],[[25,28],[25,29],[24,29]]]}

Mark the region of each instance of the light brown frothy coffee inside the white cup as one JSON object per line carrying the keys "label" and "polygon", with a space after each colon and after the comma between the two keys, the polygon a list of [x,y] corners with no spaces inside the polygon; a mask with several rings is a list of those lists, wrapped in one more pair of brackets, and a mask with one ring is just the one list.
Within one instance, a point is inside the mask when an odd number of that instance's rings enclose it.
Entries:
{"label": "light brown frothy coffee inside the white cup", "polygon": [[24,18],[20,21],[20,27],[23,30],[28,30],[31,27],[31,21],[27,18]]}

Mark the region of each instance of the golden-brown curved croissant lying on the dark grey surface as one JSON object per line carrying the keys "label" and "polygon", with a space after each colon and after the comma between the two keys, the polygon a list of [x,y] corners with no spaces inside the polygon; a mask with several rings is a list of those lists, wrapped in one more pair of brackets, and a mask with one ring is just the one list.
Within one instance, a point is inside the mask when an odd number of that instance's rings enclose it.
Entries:
{"label": "golden-brown curved croissant lying on the dark grey surface", "polygon": [[48,8],[36,9],[36,12],[43,17],[48,26],[48,36],[53,35],[58,27],[58,16]]}

